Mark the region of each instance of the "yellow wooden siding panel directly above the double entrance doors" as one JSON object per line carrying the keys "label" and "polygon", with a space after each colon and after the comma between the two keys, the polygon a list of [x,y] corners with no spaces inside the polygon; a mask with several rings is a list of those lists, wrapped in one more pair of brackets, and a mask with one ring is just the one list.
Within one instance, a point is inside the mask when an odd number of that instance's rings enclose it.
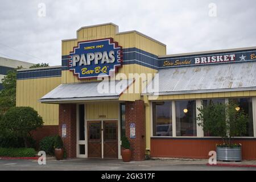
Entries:
{"label": "yellow wooden siding panel directly above the double entrance doors", "polygon": [[[85,108],[86,119],[118,119],[118,102],[88,103]],[[106,117],[102,118],[100,115],[105,115]]]}

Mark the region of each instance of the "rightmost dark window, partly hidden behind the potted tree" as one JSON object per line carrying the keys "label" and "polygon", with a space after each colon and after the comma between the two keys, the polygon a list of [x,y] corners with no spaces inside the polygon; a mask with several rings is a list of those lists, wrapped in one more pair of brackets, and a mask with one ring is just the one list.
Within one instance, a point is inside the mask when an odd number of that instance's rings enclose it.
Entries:
{"label": "rightmost dark window, partly hidden behind the potted tree", "polygon": [[249,122],[246,126],[246,134],[242,137],[253,137],[253,106],[251,98],[232,98],[230,101],[233,101],[240,108],[243,109],[246,114],[248,114]]}

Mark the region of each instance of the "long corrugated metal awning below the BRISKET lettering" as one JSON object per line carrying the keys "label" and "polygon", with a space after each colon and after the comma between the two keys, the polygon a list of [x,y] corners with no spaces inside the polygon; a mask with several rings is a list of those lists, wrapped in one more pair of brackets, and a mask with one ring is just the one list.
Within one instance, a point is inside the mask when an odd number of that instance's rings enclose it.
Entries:
{"label": "long corrugated metal awning below the BRISKET lettering", "polygon": [[160,69],[158,73],[143,94],[256,90],[256,63],[169,68]]}

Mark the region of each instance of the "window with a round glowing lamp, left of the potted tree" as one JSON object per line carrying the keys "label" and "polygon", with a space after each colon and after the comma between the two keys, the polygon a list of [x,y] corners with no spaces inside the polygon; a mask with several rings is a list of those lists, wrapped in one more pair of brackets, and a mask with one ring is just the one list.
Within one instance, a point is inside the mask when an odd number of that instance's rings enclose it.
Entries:
{"label": "window with a round glowing lamp, left of the potted tree", "polygon": [[175,101],[176,136],[196,136],[196,101]]}

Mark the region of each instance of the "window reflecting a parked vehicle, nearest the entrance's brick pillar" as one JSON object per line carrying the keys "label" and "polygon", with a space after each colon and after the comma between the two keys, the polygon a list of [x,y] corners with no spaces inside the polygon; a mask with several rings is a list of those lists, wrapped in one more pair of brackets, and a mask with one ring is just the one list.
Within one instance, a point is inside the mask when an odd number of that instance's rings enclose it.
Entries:
{"label": "window reflecting a parked vehicle, nearest the entrance's brick pillar", "polygon": [[153,135],[172,136],[171,102],[153,102]]}

